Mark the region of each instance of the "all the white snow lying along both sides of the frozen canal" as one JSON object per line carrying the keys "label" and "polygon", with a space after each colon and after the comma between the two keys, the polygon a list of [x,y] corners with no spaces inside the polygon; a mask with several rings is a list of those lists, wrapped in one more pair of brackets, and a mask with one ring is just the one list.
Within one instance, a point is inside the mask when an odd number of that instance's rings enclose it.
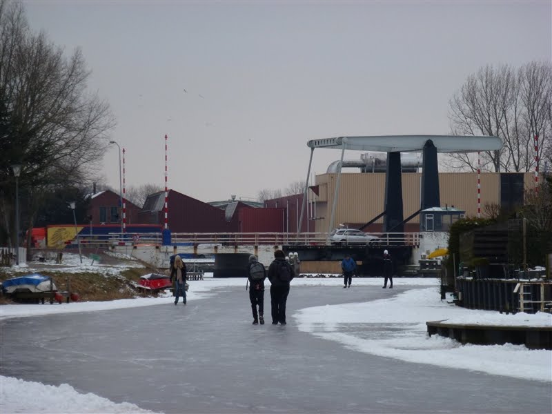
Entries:
{"label": "all the white snow lying along both sides of the frozen canal", "polygon": [[[74,255],[75,256],[75,255]],[[65,262],[64,255],[64,262]],[[68,257],[66,271],[75,272],[89,265],[80,264],[79,257]],[[135,267],[121,265],[122,268]],[[90,266],[99,270],[101,265]],[[106,271],[120,271],[119,266],[105,266]],[[21,271],[28,268],[19,266]],[[66,269],[66,268],[62,268]],[[63,271],[63,270],[60,270]],[[204,280],[190,281],[188,304],[213,295],[216,289],[243,287],[245,279],[214,279],[207,273]],[[353,279],[353,288],[380,288],[381,278]],[[341,278],[297,278],[293,286],[342,286]],[[355,351],[391,357],[408,362],[432,364],[449,368],[469,369],[495,375],[518,377],[526,380],[552,382],[552,353],[546,350],[529,350],[525,346],[462,345],[453,339],[433,335],[428,337],[425,323],[448,319],[453,323],[496,324],[514,326],[552,326],[552,315],[517,313],[505,315],[493,311],[473,311],[440,300],[437,279],[395,278],[395,288],[408,286],[409,290],[396,296],[386,290],[389,299],[354,304],[326,305],[305,308],[293,316],[300,331],[338,342]],[[265,300],[270,300],[266,292]],[[112,302],[72,302],[70,304],[0,306],[0,320],[12,317],[30,317],[52,313],[100,311],[136,306],[167,304],[172,301],[167,291],[160,297],[139,297]],[[81,394],[68,384],[59,387],[25,382],[0,376],[0,413],[68,413],[79,407],[81,413],[150,413],[125,402],[116,404],[91,393]],[[28,398],[28,395],[41,397]],[[34,401],[41,401],[41,406]],[[49,404],[43,404],[48,400]]]}

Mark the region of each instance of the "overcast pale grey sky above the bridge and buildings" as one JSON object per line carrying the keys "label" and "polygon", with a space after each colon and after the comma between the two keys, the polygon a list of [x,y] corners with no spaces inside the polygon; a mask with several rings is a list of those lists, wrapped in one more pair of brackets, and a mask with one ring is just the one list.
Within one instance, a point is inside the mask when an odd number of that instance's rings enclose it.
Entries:
{"label": "overcast pale grey sky above the bridge and buildings", "polygon": [[[486,64],[552,59],[551,1],[26,1],[83,50],[117,117],[126,184],[202,201],[304,180],[309,139],[446,134],[449,99]],[[187,92],[184,92],[186,90]],[[103,160],[119,188],[119,152]],[[315,150],[313,171],[339,151]],[[359,159],[360,152],[346,153]]]}

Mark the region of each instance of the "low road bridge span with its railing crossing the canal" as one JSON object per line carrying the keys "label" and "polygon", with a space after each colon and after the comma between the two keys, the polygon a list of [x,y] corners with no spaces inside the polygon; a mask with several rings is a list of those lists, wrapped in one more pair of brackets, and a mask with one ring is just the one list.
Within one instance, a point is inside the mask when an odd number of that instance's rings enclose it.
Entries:
{"label": "low road bridge span with its railing crossing the canal", "polygon": [[[297,253],[302,262],[338,262],[346,253],[357,262],[361,273],[380,271],[380,259],[389,250],[397,265],[417,263],[420,233],[370,233],[376,239],[365,243],[348,243],[330,239],[328,233],[172,233],[170,240],[162,233],[111,233],[110,235],[79,235],[70,246],[109,249],[137,257],[157,268],[168,268],[170,256],[184,255],[187,262],[232,266],[231,256],[254,254],[259,261],[272,262],[274,250]],[[229,262],[230,261],[230,262]],[[305,263],[306,264],[306,263]],[[221,264],[221,266],[223,266]],[[320,265],[322,267],[322,265]],[[311,273],[311,272],[308,272]],[[324,272],[320,272],[324,273]]]}

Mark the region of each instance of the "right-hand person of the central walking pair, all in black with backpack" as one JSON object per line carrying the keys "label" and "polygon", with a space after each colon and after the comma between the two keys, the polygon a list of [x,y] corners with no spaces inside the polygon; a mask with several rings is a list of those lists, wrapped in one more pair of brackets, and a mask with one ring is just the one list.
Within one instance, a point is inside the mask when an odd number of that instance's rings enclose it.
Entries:
{"label": "right-hand person of the central walking pair, all in black with backpack", "polygon": [[270,306],[272,308],[272,324],[286,324],[286,302],[289,294],[289,282],[295,277],[293,267],[286,262],[282,250],[274,252],[274,260],[268,267],[270,280]]}

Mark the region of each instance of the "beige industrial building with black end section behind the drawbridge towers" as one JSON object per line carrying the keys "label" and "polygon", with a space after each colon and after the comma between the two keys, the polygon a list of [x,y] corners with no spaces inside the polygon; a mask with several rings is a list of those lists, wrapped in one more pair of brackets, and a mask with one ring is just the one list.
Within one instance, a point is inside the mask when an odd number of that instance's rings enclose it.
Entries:
{"label": "beige industrial building with black end section behind the drawbridge towers", "polygon": [[[333,227],[348,226],[361,228],[384,210],[385,180],[382,173],[353,172],[342,173],[339,194],[335,206],[334,223],[330,224],[331,208],[337,182],[337,173],[317,175],[315,186],[311,187],[311,197],[304,217],[308,217],[317,233],[325,233]],[[409,217],[420,209],[421,172],[402,173],[402,199],[404,217]],[[500,206],[513,210],[522,206],[524,190],[533,188],[533,172],[484,172],[480,176],[481,207],[484,216],[485,206]],[[317,194],[313,191],[315,188]],[[477,216],[477,172],[440,172],[439,189],[441,206],[453,206],[466,212],[467,216]],[[290,220],[295,223],[295,208],[288,210]],[[300,215],[300,211],[299,211]],[[365,231],[381,232],[383,218],[364,228]],[[304,231],[304,226],[302,226]],[[415,216],[405,224],[406,232],[420,231],[420,217]]]}

